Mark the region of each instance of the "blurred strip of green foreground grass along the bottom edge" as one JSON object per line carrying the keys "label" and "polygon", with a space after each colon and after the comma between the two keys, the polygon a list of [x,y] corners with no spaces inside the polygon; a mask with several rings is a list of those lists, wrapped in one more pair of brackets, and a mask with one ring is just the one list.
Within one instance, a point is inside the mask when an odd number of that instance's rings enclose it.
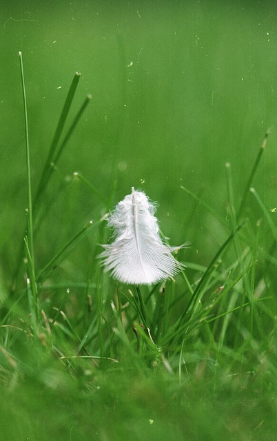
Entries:
{"label": "blurred strip of green foreground grass along the bottom edge", "polygon": [[194,375],[181,382],[166,372],[103,371],[90,363],[73,380],[48,360],[44,369],[21,374],[20,386],[2,382],[1,433],[9,440],[121,440],[132,435],[139,441],[181,441],[184,436],[220,440],[225,435],[273,441],[276,379],[269,374],[268,358],[260,359],[258,375],[243,370],[226,375],[212,354],[202,351]]}

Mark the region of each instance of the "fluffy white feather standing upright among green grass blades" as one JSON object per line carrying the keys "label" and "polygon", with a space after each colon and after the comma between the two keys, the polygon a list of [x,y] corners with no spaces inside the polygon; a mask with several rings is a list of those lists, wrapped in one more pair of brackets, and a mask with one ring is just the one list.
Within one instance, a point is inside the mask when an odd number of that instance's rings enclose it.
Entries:
{"label": "fluffy white feather standing upright among green grass blades", "polygon": [[105,271],[123,283],[152,285],[175,276],[184,265],[172,256],[180,247],[163,243],[158,232],[156,209],[145,193],[132,187],[108,216],[109,227],[114,229],[114,243],[103,245]]}

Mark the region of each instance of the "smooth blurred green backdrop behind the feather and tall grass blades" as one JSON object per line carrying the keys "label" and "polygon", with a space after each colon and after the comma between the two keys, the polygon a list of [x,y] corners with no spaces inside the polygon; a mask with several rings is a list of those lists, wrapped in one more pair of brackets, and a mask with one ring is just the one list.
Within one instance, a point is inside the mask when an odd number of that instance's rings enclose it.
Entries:
{"label": "smooth blurred green backdrop behind the feather and tall grass blades", "polygon": [[[186,258],[195,260],[197,252],[198,263],[207,263],[225,232],[180,187],[226,216],[225,163],[232,163],[238,197],[270,126],[255,184],[266,205],[276,205],[276,3],[20,1],[0,8],[3,238],[21,240],[27,203],[19,50],[34,188],[79,71],[72,119],[87,94],[92,102],[59,161],[61,176],[79,171],[108,196],[116,168],[113,202],[141,187],[158,201],[171,243],[190,240]],[[99,203],[76,187],[64,185],[54,220],[45,220],[42,248],[64,239],[71,213],[72,232],[99,218]],[[53,181],[52,193],[56,188]]]}

